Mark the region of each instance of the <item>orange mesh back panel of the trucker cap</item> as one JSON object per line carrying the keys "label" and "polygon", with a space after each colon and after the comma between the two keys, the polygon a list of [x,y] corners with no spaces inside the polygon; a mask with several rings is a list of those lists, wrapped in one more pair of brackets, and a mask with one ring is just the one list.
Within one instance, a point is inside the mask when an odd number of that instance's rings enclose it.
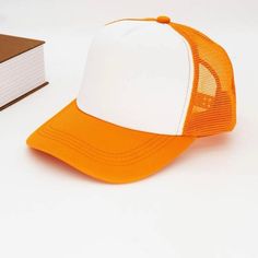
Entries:
{"label": "orange mesh back panel of the trucker cap", "polygon": [[206,137],[231,131],[236,122],[233,69],[225,50],[202,33],[171,23],[189,43],[195,77],[184,134]]}

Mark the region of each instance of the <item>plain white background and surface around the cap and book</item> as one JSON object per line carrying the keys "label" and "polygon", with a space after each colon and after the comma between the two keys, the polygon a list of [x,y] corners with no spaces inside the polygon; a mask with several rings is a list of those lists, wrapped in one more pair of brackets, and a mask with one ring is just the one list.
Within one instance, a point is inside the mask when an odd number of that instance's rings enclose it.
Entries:
{"label": "plain white background and surface around the cap and book", "polygon": [[[0,113],[0,257],[258,257],[257,13],[256,0],[0,0],[1,33],[47,42],[50,82]],[[26,137],[75,97],[92,35],[116,19],[160,14],[227,50],[235,131],[200,139],[128,185],[95,181],[28,150]]]}

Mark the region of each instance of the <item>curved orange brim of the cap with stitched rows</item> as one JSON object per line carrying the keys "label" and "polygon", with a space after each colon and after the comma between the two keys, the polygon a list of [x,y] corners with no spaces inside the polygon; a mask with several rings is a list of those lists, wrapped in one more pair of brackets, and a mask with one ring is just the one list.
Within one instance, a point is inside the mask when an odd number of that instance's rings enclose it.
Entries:
{"label": "curved orange brim of the cap with stitched rows", "polygon": [[73,101],[38,128],[27,144],[91,177],[129,183],[154,174],[194,140],[115,126],[81,112]]}

